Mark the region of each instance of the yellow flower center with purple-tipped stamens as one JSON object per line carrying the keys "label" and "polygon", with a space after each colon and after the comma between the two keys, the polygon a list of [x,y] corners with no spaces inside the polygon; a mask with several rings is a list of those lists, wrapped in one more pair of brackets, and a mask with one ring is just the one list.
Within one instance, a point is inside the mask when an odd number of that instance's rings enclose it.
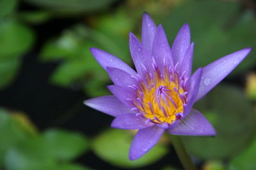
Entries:
{"label": "yellow flower center with purple-tipped stamens", "polygon": [[[183,82],[182,82],[183,81]],[[145,74],[144,81],[140,81],[140,89],[136,91],[139,103],[134,103],[145,118],[161,124],[178,120],[187,103],[188,92],[184,79],[179,80],[177,73],[164,68],[164,76],[159,70],[154,75]]]}

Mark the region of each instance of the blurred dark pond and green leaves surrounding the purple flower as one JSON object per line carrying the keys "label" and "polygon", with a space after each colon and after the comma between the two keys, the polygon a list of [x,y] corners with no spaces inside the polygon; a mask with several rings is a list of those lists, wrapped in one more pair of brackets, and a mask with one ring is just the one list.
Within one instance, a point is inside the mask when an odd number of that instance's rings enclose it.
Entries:
{"label": "blurred dark pond and green leaves surrounding the purple flower", "polygon": [[[253,0],[1,0],[0,169],[182,169],[170,134],[132,162],[135,132],[111,129],[113,117],[83,105],[111,84],[89,48],[133,66],[128,34],[140,37],[143,11],[170,45],[190,25],[194,70],[256,48]],[[256,51],[195,108],[218,132],[182,138],[196,166],[256,169]]]}

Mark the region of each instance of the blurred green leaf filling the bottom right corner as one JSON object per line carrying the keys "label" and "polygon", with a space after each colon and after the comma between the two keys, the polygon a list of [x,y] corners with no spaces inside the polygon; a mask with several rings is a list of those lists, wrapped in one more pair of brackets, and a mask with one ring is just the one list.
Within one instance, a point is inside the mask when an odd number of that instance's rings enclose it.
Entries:
{"label": "blurred green leaf filling the bottom right corner", "polygon": [[229,170],[250,170],[256,169],[256,138],[253,142],[244,150],[243,153],[231,160],[228,169]]}

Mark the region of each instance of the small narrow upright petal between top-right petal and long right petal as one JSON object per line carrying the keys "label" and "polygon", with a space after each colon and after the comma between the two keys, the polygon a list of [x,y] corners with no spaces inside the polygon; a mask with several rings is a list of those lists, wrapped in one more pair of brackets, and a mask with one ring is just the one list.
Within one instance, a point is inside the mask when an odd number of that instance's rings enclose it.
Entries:
{"label": "small narrow upright petal between top-right petal and long right petal", "polygon": [[190,76],[193,63],[193,52],[194,52],[194,43],[191,43],[187,52],[184,55],[182,62],[180,63],[179,74],[180,76],[186,71],[186,76]]}

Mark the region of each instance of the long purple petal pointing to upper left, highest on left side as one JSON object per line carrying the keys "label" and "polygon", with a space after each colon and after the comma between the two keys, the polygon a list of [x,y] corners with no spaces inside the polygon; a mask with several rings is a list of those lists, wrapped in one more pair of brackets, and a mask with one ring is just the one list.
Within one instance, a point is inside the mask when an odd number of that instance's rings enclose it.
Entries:
{"label": "long purple petal pointing to upper left, highest on left side", "polygon": [[92,55],[95,57],[97,62],[106,69],[106,67],[115,67],[118,69],[122,69],[125,72],[131,74],[132,76],[135,76],[137,73],[134,71],[130,66],[128,66],[125,62],[118,59],[114,55],[104,52],[102,50],[99,50],[97,48],[90,48]]}

